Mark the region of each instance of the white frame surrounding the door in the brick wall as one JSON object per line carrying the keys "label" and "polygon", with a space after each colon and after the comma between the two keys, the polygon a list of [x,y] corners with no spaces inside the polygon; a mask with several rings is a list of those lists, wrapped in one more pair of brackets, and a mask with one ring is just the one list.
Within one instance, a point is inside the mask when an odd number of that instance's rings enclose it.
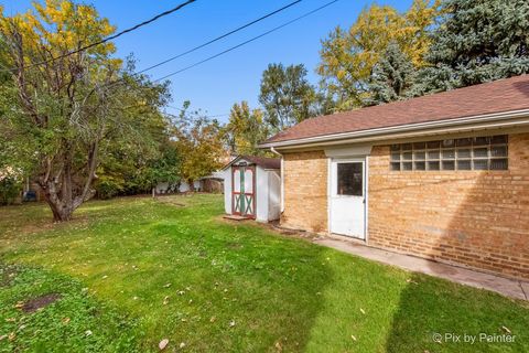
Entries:
{"label": "white frame surrounding the door in the brick wall", "polygon": [[[347,162],[361,162],[363,163],[363,170],[364,170],[364,175],[363,175],[363,186],[364,186],[364,237],[355,237],[355,236],[348,236],[358,240],[363,240],[366,244],[368,243],[368,202],[369,202],[369,193],[368,193],[368,175],[369,175],[369,157],[368,156],[363,156],[363,157],[350,157],[350,158],[327,158],[327,233],[332,233],[332,213],[333,213],[333,207],[332,207],[332,195],[333,195],[333,162],[336,163],[347,163]],[[347,235],[343,235],[347,236]]]}

